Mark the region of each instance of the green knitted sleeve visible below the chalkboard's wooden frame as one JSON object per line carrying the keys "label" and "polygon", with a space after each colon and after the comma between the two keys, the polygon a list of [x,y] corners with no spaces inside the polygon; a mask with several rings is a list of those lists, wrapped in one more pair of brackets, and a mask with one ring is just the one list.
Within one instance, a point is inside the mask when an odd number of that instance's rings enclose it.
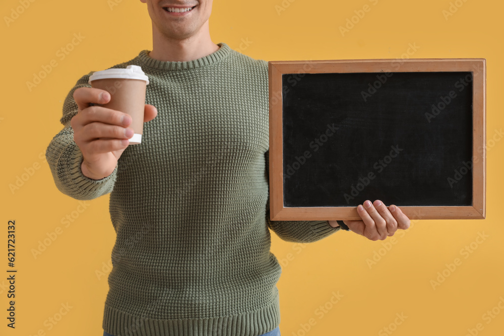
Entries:
{"label": "green knitted sleeve visible below the chalkboard's wooden frame", "polygon": [[328,221],[272,221],[270,220],[269,178],[270,151],[265,153],[266,177],[268,179],[268,201],[266,203],[266,223],[282,240],[296,243],[311,243],[326,238],[341,230],[340,226],[333,228]]}

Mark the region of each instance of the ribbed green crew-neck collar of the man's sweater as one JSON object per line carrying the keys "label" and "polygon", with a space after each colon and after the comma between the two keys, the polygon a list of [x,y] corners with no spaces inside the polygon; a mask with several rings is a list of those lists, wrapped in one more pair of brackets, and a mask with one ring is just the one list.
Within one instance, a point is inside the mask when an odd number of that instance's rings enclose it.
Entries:
{"label": "ribbed green crew-neck collar of the man's sweater", "polygon": [[140,58],[140,61],[143,63],[143,65],[157,70],[168,70],[168,71],[191,70],[216,63],[221,59],[223,59],[224,57],[226,57],[227,55],[229,55],[229,53],[231,52],[231,48],[226,43],[220,42],[217,43],[217,45],[220,46],[220,48],[212,52],[210,55],[184,62],[162,61],[154,59],[151,56],[149,56],[149,52],[151,50],[140,51],[138,57]]}

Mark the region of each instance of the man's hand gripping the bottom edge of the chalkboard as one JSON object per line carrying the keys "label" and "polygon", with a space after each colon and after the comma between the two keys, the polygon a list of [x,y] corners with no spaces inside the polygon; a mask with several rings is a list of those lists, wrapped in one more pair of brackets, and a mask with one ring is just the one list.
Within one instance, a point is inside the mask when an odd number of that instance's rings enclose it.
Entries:
{"label": "man's hand gripping the bottom edge of the chalkboard", "polygon": [[[358,233],[370,240],[385,240],[393,236],[397,229],[406,230],[410,226],[409,218],[399,207],[391,205],[389,208],[376,199],[374,203],[366,200],[364,206],[357,207],[357,213],[362,221],[343,221],[350,231]],[[337,221],[329,221],[329,225],[337,227]]]}

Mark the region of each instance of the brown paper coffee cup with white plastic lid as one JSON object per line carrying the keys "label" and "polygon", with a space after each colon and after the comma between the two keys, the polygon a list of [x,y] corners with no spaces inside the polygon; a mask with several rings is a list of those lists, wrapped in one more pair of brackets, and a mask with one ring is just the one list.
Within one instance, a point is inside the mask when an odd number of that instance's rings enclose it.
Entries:
{"label": "brown paper coffee cup with white plastic lid", "polygon": [[110,93],[110,101],[100,106],[127,113],[132,118],[129,127],[134,135],[130,145],[141,144],[144,129],[145,92],[149,78],[138,65],[126,69],[97,71],[89,77],[91,87]]}

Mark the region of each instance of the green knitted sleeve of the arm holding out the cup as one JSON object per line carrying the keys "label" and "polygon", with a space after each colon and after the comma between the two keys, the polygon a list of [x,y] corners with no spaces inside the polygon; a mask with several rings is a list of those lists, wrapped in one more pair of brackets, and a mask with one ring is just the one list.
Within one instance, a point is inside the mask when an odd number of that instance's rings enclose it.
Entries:
{"label": "green knitted sleeve of the arm holding out the cup", "polygon": [[63,104],[63,116],[59,120],[64,125],[49,143],[45,157],[56,187],[62,193],[75,199],[88,200],[109,193],[114,187],[117,166],[114,171],[100,180],[94,180],[82,173],[82,152],[74,141],[74,130],[70,121],[77,114],[78,107],[74,100],[74,91],[80,87],[91,87],[89,76],[83,76],[67,95]]}

